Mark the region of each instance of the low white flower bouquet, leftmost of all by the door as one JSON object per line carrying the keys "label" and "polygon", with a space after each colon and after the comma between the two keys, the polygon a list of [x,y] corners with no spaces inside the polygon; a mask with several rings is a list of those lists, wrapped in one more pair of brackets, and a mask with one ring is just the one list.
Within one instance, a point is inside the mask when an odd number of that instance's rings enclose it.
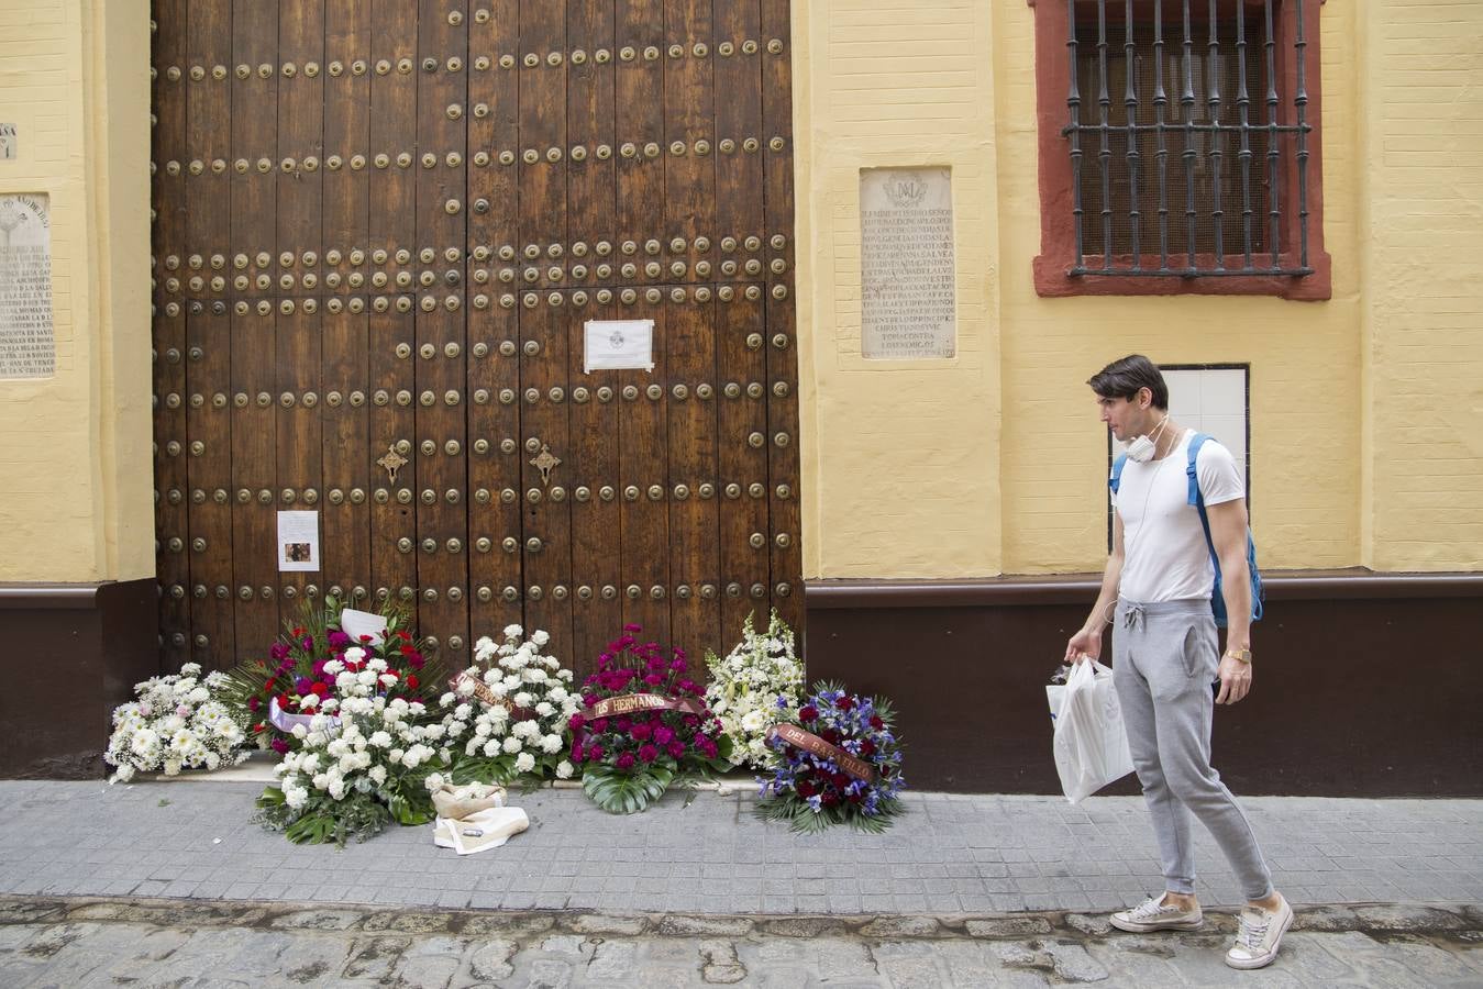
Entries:
{"label": "low white flower bouquet, leftmost of all by the door", "polygon": [[221,673],[202,679],[200,664],[187,663],[178,675],[135,684],[136,700],[113,712],[113,735],[102,758],[117,771],[108,781],[128,783],[136,773],[217,770],[246,759],[246,735],[215,697],[224,682]]}

